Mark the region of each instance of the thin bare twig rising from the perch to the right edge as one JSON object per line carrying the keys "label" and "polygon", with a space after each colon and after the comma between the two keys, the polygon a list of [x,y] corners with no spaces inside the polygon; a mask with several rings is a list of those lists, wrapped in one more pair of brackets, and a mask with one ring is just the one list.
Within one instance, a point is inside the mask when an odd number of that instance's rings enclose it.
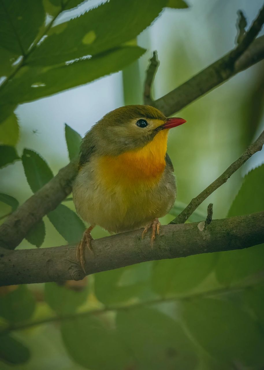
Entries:
{"label": "thin bare twig rising from the perch to the right edge", "polygon": [[264,131],[260,134],[256,141],[251,144],[247,150],[233,162],[226,171],[223,172],[214,182],[212,182],[206,189],[204,189],[196,198],[193,198],[187,207],[170,223],[184,223],[197,207],[216,189],[223,185],[238,170],[253,154],[260,151],[264,144]]}

